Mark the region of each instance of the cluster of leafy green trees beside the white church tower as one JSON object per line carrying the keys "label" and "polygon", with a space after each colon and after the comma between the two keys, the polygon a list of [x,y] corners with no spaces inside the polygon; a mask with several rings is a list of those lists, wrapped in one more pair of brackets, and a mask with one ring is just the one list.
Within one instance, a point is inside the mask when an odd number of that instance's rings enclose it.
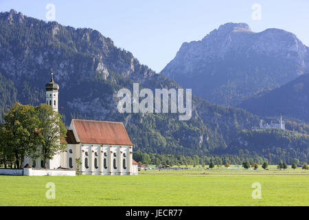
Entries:
{"label": "cluster of leafy green trees beside the white church tower", "polygon": [[7,109],[0,124],[0,160],[4,167],[22,168],[25,156],[52,159],[57,152],[64,151],[67,129],[61,115],[47,104],[34,107],[16,102]]}

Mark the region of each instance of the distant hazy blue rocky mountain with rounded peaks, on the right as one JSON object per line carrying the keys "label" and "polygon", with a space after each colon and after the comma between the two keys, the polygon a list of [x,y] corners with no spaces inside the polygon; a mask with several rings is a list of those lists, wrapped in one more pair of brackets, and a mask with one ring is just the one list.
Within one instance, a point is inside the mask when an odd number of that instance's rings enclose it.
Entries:
{"label": "distant hazy blue rocky mountain with rounded peaks, on the right", "polygon": [[193,94],[227,106],[305,73],[309,49],[295,34],[275,28],[256,33],[246,23],[226,23],[201,41],[183,43],[161,71]]}

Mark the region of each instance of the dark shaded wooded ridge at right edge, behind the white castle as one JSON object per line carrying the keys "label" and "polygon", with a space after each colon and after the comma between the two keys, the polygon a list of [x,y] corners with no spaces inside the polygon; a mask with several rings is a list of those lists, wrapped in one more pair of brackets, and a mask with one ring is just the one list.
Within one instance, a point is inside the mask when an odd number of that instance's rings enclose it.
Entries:
{"label": "dark shaded wooded ridge at right edge, behind the white castle", "polygon": [[309,74],[244,100],[239,107],[261,116],[284,115],[309,122]]}

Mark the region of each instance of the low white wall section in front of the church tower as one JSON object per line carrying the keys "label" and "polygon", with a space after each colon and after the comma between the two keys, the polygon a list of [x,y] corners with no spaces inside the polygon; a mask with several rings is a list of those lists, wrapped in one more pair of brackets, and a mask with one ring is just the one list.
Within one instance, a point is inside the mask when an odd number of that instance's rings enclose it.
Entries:
{"label": "low white wall section in front of the church tower", "polygon": [[76,170],[48,170],[25,168],[25,176],[76,176]]}

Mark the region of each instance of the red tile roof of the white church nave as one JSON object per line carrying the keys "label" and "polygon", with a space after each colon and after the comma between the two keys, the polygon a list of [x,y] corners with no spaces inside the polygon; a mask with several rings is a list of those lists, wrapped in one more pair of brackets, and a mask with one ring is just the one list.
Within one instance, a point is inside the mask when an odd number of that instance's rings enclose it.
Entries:
{"label": "red tile roof of the white church nave", "polygon": [[73,119],[78,139],[87,144],[133,145],[122,122]]}

